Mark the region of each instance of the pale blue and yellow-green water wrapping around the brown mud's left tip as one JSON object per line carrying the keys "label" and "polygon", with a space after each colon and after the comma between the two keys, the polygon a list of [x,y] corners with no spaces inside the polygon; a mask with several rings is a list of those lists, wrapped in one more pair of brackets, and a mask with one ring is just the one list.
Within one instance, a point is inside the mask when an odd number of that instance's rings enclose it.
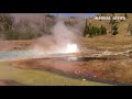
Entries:
{"label": "pale blue and yellow-green water wrapping around the brown mud's left tip", "polygon": [[40,55],[34,55],[30,52],[8,52],[0,53],[0,79],[15,80],[23,85],[30,86],[99,86],[108,85],[101,82],[95,82],[89,80],[81,80],[76,78],[69,78],[64,75],[58,75],[47,70],[38,69],[21,69],[10,66],[9,62],[12,59],[30,58]]}

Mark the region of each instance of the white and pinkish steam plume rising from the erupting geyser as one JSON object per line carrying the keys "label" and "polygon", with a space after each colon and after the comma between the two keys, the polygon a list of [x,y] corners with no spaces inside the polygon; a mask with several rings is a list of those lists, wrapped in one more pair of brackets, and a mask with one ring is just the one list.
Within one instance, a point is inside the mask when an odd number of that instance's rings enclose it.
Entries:
{"label": "white and pinkish steam plume rising from the erupting geyser", "polygon": [[[35,54],[57,54],[77,52],[77,43],[80,37],[79,30],[68,28],[63,21],[58,21],[52,29],[52,35],[44,35],[33,45]],[[69,50],[67,50],[67,46]],[[76,50],[73,50],[76,48]],[[69,51],[69,52],[68,52]]]}

